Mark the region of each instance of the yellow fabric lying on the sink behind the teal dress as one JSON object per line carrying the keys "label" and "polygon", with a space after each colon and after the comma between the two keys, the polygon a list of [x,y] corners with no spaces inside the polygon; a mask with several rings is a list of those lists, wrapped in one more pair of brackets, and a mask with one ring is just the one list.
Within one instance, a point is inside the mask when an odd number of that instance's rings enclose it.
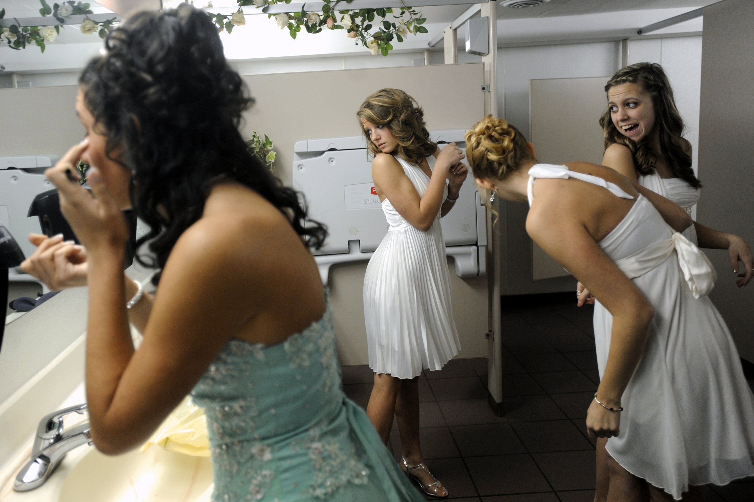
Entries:
{"label": "yellow fabric lying on the sink behind the teal dress", "polygon": [[146,451],[152,445],[194,457],[209,457],[210,439],[204,410],[186,396],[139,451]]}

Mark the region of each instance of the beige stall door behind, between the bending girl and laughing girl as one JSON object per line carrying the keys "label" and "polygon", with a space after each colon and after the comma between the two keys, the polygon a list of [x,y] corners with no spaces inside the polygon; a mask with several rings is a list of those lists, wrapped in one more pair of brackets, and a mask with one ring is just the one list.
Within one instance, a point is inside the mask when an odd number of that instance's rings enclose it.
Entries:
{"label": "beige stall door behind, between the bending girl and laughing girl", "polygon": [[[545,164],[575,160],[602,164],[599,115],[607,107],[605,82],[610,77],[532,79],[529,81],[529,138]],[[532,279],[569,276],[532,242]]]}

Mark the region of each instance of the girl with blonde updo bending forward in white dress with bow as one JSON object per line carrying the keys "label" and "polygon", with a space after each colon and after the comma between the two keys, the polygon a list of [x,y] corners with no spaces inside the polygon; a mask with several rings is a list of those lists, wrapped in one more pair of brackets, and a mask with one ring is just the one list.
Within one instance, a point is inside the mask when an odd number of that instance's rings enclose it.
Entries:
{"label": "girl with blonde updo bending forward in white dress with bow", "polygon": [[492,115],[466,144],[477,183],[529,202],[529,236],[604,307],[586,425],[607,439],[607,499],[697,500],[699,485],[754,474],[754,395],[686,211],[602,165],[539,164]]}

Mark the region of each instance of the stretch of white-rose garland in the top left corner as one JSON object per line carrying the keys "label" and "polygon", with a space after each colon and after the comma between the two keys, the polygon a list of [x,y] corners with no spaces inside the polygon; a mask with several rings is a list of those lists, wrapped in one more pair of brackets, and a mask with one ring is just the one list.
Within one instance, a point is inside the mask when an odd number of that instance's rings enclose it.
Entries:
{"label": "stretch of white-rose garland in the top left corner", "polygon": [[[18,24],[11,24],[10,27],[5,28],[0,33],[0,43],[5,41],[8,47],[20,51],[25,49],[26,45],[34,43],[38,48],[44,52],[45,42],[53,42],[57,35],[60,35],[60,25],[66,23],[66,19],[70,19],[71,16],[86,15],[87,17],[81,22],[81,32],[84,35],[91,35],[94,32],[100,34],[100,38],[105,38],[107,34],[115,28],[115,17],[105,21],[91,20],[88,14],[93,14],[89,8],[89,4],[81,2],[63,2],[61,4],[54,4],[52,7],[45,2],[45,0],[39,0],[42,8],[39,9],[39,14],[42,17],[49,16],[57,20],[58,25],[55,26],[23,26]],[[0,19],[5,17],[5,9],[0,11]],[[18,20],[16,20],[18,23]],[[63,26],[65,27],[65,26]]]}

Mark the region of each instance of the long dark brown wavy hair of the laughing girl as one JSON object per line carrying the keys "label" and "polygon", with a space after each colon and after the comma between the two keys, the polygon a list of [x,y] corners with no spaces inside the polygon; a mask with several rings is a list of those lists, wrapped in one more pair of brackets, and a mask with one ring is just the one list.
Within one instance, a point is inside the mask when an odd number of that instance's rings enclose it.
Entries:
{"label": "long dark brown wavy hair of the laughing girl", "polygon": [[[654,127],[660,131],[660,148],[667,159],[667,165],[676,177],[682,178],[694,188],[700,188],[702,184],[691,168],[691,156],[686,153],[689,146],[688,140],[683,134],[683,119],[676,108],[673,99],[673,88],[667,79],[662,66],[657,63],[635,63],[618,70],[605,85],[605,92],[621,84],[639,85],[652,97],[654,106]],[[633,163],[636,171],[646,176],[654,173],[654,164],[657,158],[651,151],[648,138],[642,138],[636,142],[626,137],[612,122],[610,109],[606,109],[599,117],[599,125],[605,135],[605,149],[612,143],[627,146],[633,154]]]}

